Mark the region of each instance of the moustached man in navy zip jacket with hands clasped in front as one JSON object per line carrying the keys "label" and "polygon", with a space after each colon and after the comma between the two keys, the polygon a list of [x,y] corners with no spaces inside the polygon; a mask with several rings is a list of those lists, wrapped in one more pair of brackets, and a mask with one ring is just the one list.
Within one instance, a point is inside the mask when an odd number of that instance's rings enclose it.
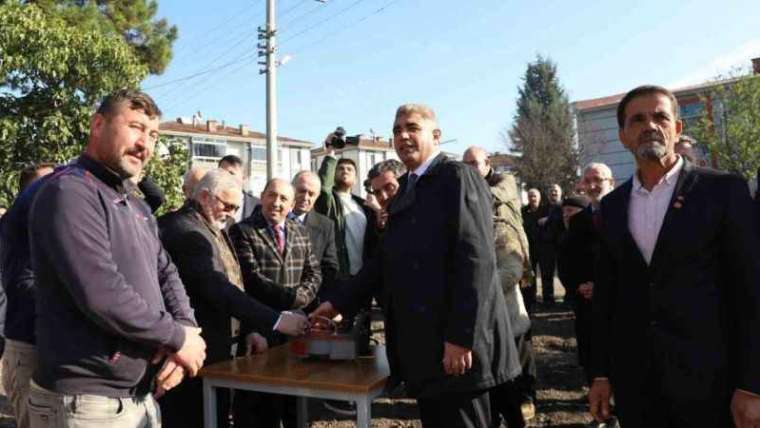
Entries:
{"label": "moustached man in navy zip jacket with hands clasped in front", "polygon": [[[154,375],[168,389],[203,364],[206,345],[184,286],[130,187],[153,153],[160,114],[140,92],[106,97],[84,154],[50,176],[32,203],[32,427],[159,426]],[[163,367],[151,364],[164,356]]]}

